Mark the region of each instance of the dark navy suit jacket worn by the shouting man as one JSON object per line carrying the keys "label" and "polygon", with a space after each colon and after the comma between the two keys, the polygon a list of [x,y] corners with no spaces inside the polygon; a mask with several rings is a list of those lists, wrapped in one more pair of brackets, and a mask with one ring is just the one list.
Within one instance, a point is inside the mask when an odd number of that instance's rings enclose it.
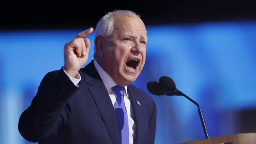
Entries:
{"label": "dark navy suit jacket worn by the shouting man", "polygon": [[[39,144],[121,144],[114,107],[93,61],[79,71],[75,86],[64,71],[42,79],[18,129]],[[127,87],[136,123],[134,144],[154,144],[156,104],[142,90]],[[136,101],[140,102],[140,105]]]}

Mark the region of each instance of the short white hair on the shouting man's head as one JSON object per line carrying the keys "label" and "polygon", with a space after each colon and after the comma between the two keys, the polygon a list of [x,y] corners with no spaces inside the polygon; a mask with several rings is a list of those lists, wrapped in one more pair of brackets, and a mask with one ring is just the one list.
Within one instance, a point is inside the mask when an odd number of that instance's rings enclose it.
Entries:
{"label": "short white hair on the shouting man's head", "polygon": [[[124,14],[124,15],[128,15],[128,16],[136,15],[136,16],[140,17],[140,15],[138,15],[135,12],[132,12],[130,10],[115,10],[113,12],[108,12],[98,22],[96,29],[95,29],[94,39],[97,36],[110,36],[113,32],[114,16],[120,15],[120,14]],[[94,45],[94,51],[95,50],[96,50],[96,46]]]}

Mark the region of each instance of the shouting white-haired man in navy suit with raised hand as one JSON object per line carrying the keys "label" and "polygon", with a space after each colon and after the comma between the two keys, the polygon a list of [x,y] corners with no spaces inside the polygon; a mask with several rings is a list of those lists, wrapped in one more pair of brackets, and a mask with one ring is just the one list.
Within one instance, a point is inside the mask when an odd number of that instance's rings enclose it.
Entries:
{"label": "shouting white-haired man in navy suit with raised hand", "polygon": [[18,129],[39,144],[154,144],[156,104],[131,83],[146,60],[146,28],[127,10],[98,22],[94,60],[92,28],[64,46],[65,64],[46,74]]}

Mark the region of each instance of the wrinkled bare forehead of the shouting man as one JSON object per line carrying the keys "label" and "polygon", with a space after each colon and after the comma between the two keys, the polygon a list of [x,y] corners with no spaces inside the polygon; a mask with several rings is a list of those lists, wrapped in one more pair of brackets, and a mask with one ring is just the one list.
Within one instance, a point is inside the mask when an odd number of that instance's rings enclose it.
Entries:
{"label": "wrinkled bare forehead of the shouting man", "polygon": [[136,15],[120,15],[114,17],[113,34],[116,36],[143,37],[147,39],[147,31],[143,21]]}

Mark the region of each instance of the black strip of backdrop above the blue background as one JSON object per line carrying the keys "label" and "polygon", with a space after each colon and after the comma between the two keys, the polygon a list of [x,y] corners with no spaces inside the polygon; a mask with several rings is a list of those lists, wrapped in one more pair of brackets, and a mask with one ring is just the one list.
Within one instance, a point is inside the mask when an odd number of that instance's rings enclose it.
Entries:
{"label": "black strip of backdrop above the blue background", "polygon": [[96,26],[115,9],[142,15],[146,25],[256,19],[254,0],[0,1],[0,28],[69,29]]}

